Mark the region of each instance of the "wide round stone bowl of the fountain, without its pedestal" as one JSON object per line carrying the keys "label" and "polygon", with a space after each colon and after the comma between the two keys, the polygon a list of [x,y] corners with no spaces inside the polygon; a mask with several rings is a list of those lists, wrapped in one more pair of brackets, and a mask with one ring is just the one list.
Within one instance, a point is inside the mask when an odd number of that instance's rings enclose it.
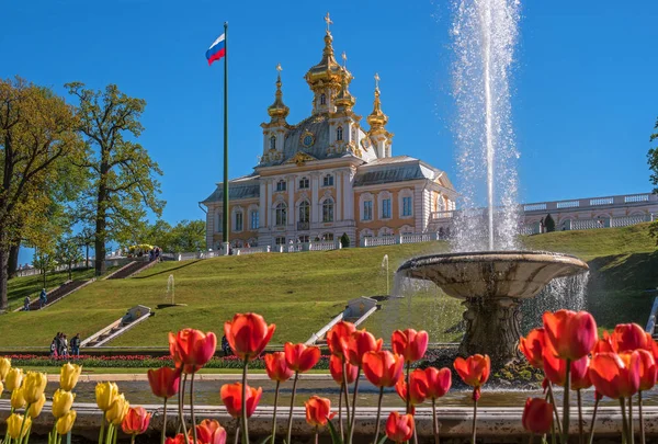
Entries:
{"label": "wide round stone bowl of the fountain, without its pedestal", "polygon": [[589,270],[569,254],[547,251],[478,251],[413,258],[398,269],[406,277],[432,281],[462,299],[530,298],[556,277]]}

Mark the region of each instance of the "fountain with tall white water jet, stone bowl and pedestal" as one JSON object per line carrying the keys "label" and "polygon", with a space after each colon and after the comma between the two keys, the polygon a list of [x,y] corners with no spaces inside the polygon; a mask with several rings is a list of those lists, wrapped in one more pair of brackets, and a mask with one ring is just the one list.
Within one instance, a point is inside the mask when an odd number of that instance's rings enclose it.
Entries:
{"label": "fountain with tall white water jet, stone bowl and pedestal", "polygon": [[[488,354],[497,365],[519,357],[519,306],[552,280],[586,272],[578,258],[518,249],[518,158],[511,130],[509,69],[518,35],[517,0],[462,0],[453,29],[455,96],[462,148],[462,216],[453,250],[413,258],[397,271],[431,281],[466,307],[461,355]],[[481,182],[481,183],[480,183]],[[486,214],[476,209],[478,191]]]}

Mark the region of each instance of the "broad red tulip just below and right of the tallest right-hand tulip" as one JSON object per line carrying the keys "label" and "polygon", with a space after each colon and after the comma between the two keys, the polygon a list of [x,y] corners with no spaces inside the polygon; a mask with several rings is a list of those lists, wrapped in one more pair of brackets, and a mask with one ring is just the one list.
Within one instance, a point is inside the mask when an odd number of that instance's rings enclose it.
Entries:
{"label": "broad red tulip just below and right of the tallest right-hand tulip", "polygon": [[601,395],[628,398],[639,388],[639,353],[599,353],[592,357],[589,375]]}

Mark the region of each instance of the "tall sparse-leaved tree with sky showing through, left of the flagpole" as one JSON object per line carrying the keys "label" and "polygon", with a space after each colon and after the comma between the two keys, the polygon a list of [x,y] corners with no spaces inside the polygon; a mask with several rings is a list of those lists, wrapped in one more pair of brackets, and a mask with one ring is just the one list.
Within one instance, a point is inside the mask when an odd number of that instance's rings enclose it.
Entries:
{"label": "tall sparse-leaved tree with sky showing through, left of the flagpole", "polygon": [[80,82],[66,87],[79,100],[79,130],[93,151],[81,163],[92,180],[80,210],[94,226],[95,273],[100,275],[105,271],[107,241],[144,219],[146,208],[161,215],[164,202],[157,197],[157,177],[162,171],[141,145],[127,139],[139,137],[144,129],[139,117],[146,101],[126,95],[115,84],[104,91],[84,89]]}

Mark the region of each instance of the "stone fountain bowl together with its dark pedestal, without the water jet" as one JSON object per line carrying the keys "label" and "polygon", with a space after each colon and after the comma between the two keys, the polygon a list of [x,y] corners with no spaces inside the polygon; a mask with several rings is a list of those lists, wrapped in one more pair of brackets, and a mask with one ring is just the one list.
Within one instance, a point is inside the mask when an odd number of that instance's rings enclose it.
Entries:
{"label": "stone fountain bowl together with its dark pedestal, without the water jet", "polygon": [[519,356],[522,299],[534,297],[555,277],[588,270],[586,262],[567,254],[484,251],[413,258],[398,273],[431,281],[446,295],[464,299],[466,332],[460,354],[488,354],[498,365]]}

